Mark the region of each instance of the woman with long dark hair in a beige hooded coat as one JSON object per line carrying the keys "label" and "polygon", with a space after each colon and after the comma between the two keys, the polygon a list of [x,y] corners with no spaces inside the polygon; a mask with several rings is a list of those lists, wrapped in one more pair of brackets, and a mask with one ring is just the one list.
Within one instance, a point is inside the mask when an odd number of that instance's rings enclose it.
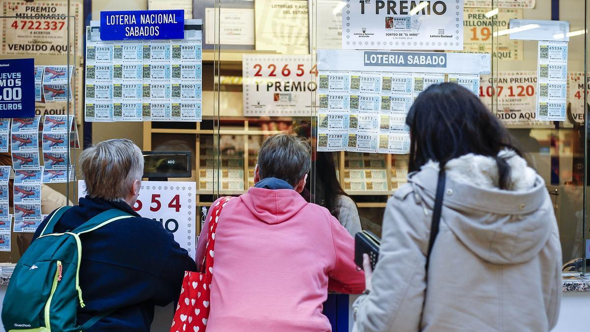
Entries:
{"label": "woman with long dark hair in a beige hooded coat", "polygon": [[553,328],[561,249],[542,177],[496,116],[457,84],[428,87],[407,124],[411,173],[388,201],[372,276],[365,258],[367,290],[353,305],[356,330]]}

